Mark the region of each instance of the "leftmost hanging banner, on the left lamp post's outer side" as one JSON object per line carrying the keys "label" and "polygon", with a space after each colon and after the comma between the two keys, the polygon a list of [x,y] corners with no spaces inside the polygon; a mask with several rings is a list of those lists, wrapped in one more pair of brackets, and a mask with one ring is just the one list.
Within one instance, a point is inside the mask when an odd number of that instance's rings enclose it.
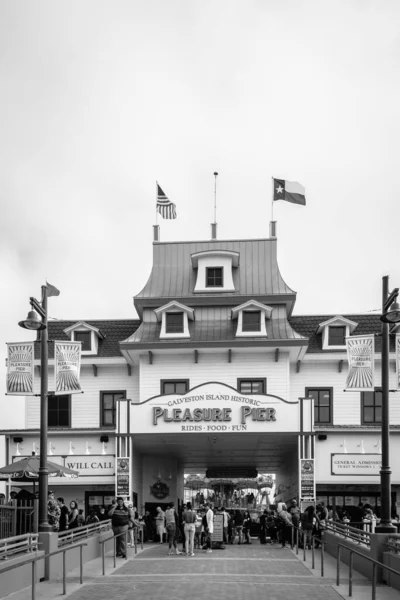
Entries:
{"label": "leftmost hanging banner, on the left lamp post's outer side", "polygon": [[33,396],[35,342],[7,344],[7,394]]}

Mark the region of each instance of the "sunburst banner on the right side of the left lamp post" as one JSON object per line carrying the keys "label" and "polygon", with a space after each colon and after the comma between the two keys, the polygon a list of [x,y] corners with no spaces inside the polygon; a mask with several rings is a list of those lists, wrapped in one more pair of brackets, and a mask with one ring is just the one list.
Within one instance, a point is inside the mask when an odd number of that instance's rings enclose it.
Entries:
{"label": "sunburst banner on the right side of the left lamp post", "polygon": [[82,342],[54,342],[54,394],[77,394]]}

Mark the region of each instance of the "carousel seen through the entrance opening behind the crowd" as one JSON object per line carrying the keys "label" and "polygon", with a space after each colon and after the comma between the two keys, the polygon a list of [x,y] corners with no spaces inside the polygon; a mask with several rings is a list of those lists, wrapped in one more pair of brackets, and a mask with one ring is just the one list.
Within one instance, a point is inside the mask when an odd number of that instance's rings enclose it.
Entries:
{"label": "carousel seen through the entrance opening behind the crowd", "polygon": [[201,508],[212,502],[216,508],[262,512],[272,503],[273,475],[254,478],[207,478],[200,474],[186,475],[184,501],[193,508]]}

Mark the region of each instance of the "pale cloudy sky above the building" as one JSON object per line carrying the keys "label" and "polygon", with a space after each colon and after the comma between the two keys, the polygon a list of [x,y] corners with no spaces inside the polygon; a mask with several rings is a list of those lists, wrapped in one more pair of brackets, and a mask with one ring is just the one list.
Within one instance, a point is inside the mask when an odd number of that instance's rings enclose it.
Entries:
{"label": "pale cloudy sky above the building", "polygon": [[[209,239],[214,171],[219,239],[268,237],[272,176],[305,186],[306,207],[274,206],[295,314],[379,309],[382,275],[400,286],[399,18],[398,0],[3,0],[2,364],[46,278],[52,317],[135,317],[155,181],[178,213],[161,239]],[[20,408],[4,396],[0,427]]]}

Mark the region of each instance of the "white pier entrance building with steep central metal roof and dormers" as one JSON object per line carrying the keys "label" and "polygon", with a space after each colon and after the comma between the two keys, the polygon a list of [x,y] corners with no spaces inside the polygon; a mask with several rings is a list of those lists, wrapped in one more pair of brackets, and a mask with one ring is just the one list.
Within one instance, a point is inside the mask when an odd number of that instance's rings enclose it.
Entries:
{"label": "white pier entrance building with steep central metal roof and dormers", "polygon": [[[379,513],[381,393],[344,389],[351,335],[376,334],[380,385],[380,315],[300,316],[295,302],[274,237],[155,240],[134,298],[139,319],[49,323],[50,339],[82,342],[84,392],[49,399],[49,460],[80,472],[49,487],[88,510],[109,504],[118,480],[144,512],[182,500],[184,474],[255,469],[275,474],[275,500],[368,502]],[[51,377],[51,353],[49,366]],[[393,391],[392,457],[399,400]],[[37,397],[26,399],[25,420],[2,432],[6,462],[39,447]],[[118,476],[121,465],[128,473]],[[395,513],[400,466],[391,466]]]}

